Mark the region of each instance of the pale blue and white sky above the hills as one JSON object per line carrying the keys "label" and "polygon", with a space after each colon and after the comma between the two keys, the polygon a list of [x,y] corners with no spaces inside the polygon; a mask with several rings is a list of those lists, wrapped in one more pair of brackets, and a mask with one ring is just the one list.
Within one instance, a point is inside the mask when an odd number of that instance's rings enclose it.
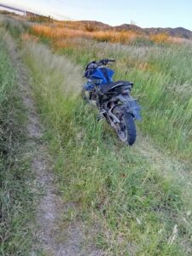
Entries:
{"label": "pale blue and white sky above the hills", "polygon": [[0,0],[60,20],[97,20],[116,26],[133,22],[142,27],[192,30],[192,0]]}

